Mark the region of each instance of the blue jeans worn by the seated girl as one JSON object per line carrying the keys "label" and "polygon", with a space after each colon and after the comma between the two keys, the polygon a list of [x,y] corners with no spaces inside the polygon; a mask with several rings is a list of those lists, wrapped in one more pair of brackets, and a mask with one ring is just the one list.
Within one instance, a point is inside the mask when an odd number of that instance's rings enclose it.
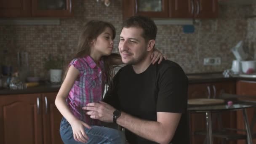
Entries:
{"label": "blue jeans worn by the seated girl", "polygon": [[[125,144],[124,134],[113,128],[91,125],[90,129],[85,128],[85,133],[89,137],[86,144]],[[83,144],[75,141],[72,127],[64,117],[61,120],[60,134],[64,144]]]}

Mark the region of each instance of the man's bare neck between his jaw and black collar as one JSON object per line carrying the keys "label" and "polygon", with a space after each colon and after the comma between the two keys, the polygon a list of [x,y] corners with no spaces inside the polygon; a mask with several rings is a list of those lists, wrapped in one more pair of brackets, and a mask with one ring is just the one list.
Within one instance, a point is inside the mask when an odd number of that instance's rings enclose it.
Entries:
{"label": "man's bare neck between his jaw and black collar", "polygon": [[144,60],[142,60],[138,64],[132,65],[133,70],[136,74],[144,72],[149,67],[149,65],[151,64],[150,56],[151,54],[148,54]]}

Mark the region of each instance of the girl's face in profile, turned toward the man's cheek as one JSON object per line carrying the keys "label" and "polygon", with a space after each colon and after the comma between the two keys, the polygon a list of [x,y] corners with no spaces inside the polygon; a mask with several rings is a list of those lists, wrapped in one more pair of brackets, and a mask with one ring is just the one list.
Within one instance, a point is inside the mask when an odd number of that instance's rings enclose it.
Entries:
{"label": "girl's face in profile, turned toward the man's cheek", "polygon": [[91,51],[94,54],[99,54],[100,56],[108,56],[113,50],[114,42],[112,40],[113,32],[112,29],[107,27],[104,32],[102,32],[96,40],[93,40],[93,45]]}

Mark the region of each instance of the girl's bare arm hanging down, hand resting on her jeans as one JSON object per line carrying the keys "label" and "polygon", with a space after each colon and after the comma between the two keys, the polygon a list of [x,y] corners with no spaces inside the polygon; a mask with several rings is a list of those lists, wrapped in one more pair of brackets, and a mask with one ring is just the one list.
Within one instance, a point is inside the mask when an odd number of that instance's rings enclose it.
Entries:
{"label": "girl's bare arm hanging down, hand resting on her jeans", "polygon": [[85,143],[88,140],[88,136],[84,131],[84,127],[86,128],[91,128],[91,127],[86,123],[82,122],[81,120],[78,120],[69,110],[69,107],[67,106],[67,103],[66,103],[66,98],[69,94],[69,91],[74,85],[75,80],[77,79],[79,74],[80,74],[79,70],[76,69],[74,66],[71,65],[69,67],[67,71],[67,75],[56,96],[55,105],[59,109],[59,112],[61,112],[61,115],[63,115],[63,117],[65,117],[69,122],[69,124],[72,126],[74,139],[76,141]]}

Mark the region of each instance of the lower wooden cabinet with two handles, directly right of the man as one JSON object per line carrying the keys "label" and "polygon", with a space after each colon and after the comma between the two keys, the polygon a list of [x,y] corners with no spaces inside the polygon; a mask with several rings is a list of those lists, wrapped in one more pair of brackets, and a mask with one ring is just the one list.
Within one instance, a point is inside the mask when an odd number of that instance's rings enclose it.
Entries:
{"label": "lower wooden cabinet with two handles, directly right of the man", "polygon": [[[216,83],[193,83],[188,87],[188,98],[218,98],[221,93],[235,94],[235,82],[216,82]],[[226,128],[236,128],[236,113],[235,112],[222,112],[222,123]],[[216,115],[213,114],[213,130],[217,128]],[[205,135],[194,135],[195,131],[205,131],[205,114],[195,113],[190,114],[190,131],[191,131],[191,144],[203,144]],[[214,138],[214,144],[220,144],[221,139]],[[235,144],[230,142],[229,144]]]}

